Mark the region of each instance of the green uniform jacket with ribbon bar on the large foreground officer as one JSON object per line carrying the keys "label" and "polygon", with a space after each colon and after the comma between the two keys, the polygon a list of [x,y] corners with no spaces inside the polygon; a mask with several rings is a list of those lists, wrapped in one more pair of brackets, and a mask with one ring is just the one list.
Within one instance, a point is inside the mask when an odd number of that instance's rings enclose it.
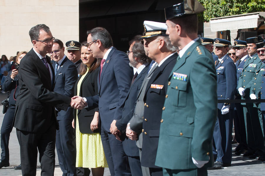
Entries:
{"label": "green uniform jacket with ribbon bar on the large foreground officer", "polygon": [[213,127],[217,116],[216,69],[211,53],[193,43],[168,78],[155,165],[196,169],[195,160],[213,164]]}

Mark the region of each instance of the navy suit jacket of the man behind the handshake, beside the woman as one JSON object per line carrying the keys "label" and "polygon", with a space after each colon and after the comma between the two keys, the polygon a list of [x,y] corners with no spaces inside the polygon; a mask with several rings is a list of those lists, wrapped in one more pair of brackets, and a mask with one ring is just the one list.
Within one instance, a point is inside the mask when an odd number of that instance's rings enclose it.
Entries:
{"label": "navy suit jacket of the man behind the handshake, beside the woman", "polygon": [[[55,63],[52,64],[54,68]],[[64,58],[54,77],[54,92],[72,98],[74,96],[74,84],[77,80],[77,69],[74,63],[67,57]],[[60,110],[57,120],[73,119],[73,108],[68,107],[67,111]]]}

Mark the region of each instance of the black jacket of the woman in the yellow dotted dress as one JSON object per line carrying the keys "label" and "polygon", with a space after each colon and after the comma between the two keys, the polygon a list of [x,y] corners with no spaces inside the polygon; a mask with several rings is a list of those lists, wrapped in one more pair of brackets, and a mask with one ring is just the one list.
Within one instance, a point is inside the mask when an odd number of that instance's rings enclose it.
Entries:
{"label": "black jacket of the woman in the yellow dotted dress", "polygon": [[[88,97],[98,95],[97,88],[97,75],[98,75],[99,67],[94,71],[87,73],[85,78],[83,79],[80,87],[79,96]],[[74,86],[74,95],[77,95],[77,83],[80,80],[81,76],[77,79]],[[90,123],[94,118],[95,111],[98,111],[98,108],[94,108],[88,110],[87,108],[78,110],[78,123],[79,130],[81,133],[99,133],[99,129],[94,130],[92,132],[90,130]],[[74,125],[76,125],[76,110],[74,110]]]}

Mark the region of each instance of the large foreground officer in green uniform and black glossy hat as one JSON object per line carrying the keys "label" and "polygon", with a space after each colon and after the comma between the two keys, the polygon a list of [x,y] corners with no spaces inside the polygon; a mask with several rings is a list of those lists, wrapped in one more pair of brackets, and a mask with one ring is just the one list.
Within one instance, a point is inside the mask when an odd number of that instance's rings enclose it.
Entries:
{"label": "large foreground officer in green uniform and black glossy hat", "polygon": [[213,164],[212,138],[217,115],[216,69],[197,37],[198,1],[165,8],[166,34],[181,48],[168,78],[155,165],[163,175],[207,175]]}

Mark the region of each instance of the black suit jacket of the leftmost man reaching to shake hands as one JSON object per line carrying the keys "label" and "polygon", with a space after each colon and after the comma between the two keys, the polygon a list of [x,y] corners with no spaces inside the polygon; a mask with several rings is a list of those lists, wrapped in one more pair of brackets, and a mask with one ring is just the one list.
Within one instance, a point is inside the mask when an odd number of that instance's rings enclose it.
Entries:
{"label": "black suit jacket of the leftmost man reaching to shake hands", "polygon": [[[52,67],[48,56],[46,59]],[[67,110],[71,98],[53,92],[50,73],[33,49],[21,60],[18,77],[20,92],[14,127],[32,133],[45,132],[56,122],[54,106]]]}

